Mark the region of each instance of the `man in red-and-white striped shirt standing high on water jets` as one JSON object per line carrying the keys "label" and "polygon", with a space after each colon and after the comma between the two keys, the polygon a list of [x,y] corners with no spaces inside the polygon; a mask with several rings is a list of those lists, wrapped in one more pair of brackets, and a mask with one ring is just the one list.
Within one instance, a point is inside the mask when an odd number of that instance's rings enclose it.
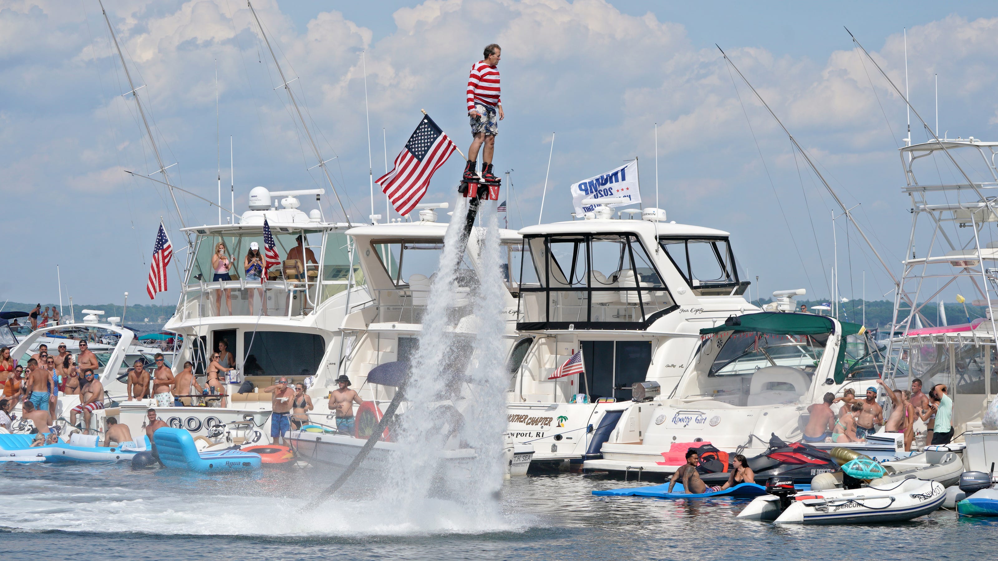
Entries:
{"label": "man in red-and-white striped shirt standing high on water jets", "polygon": [[[471,66],[468,76],[468,117],[471,120],[471,146],[468,148],[468,161],[464,166],[462,181],[498,184],[499,178],[492,172],[492,155],[495,152],[496,135],[499,134],[499,121],[505,119],[502,100],[499,97],[499,65],[502,49],[495,43],[485,47],[484,59]],[[482,148],[482,174],[478,175],[478,148]]]}

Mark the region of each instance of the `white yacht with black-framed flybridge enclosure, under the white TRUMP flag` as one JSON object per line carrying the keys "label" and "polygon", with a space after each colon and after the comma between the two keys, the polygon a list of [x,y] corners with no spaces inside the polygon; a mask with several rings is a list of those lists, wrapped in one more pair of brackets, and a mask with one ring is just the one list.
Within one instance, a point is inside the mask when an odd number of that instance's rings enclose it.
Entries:
{"label": "white yacht with black-framed flybridge enclosure, under the white TRUMP flag", "polygon": [[615,218],[598,205],[520,230],[507,413],[534,464],[599,458],[608,441],[640,445],[661,417],[651,400],[674,391],[700,330],[757,310],[728,232],[629,210]]}

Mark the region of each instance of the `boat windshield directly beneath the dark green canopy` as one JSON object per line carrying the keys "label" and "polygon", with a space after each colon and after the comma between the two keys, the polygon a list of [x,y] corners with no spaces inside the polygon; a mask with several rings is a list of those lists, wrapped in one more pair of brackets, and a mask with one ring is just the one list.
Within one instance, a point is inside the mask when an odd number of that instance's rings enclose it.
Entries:
{"label": "boat windshield directly beneath the dark green canopy", "polygon": [[716,334],[705,341],[701,354],[709,356],[712,347],[720,346],[717,356],[683,397],[739,407],[796,402],[810,387],[827,342],[826,334]]}

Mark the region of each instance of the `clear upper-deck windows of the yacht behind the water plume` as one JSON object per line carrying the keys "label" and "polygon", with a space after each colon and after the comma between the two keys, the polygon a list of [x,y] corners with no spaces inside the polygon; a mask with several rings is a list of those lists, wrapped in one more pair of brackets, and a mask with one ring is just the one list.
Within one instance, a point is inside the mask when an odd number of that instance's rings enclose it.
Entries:
{"label": "clear upper-deck windows of the yacht behind the water plume", "polygon": [[[381,267],[391,277],[395,286],[408,286],[413,276],[420,281],[432,281],[437,269],[440,268],[440,258],[443,256],[442,242],[375,240],[372,243],[378,248]],[[391,267],[390,271],[385,262]],[[461,263],[458,265],[457,284],[468,288],[478,286],[478,277],[467,254],[461,258]]]}

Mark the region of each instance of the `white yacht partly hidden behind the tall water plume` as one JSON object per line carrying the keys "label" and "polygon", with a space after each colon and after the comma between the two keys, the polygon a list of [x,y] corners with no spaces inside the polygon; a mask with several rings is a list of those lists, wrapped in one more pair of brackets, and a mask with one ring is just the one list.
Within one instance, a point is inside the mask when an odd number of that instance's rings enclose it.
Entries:
{"label": "white yacht partly hidden behind the tall water plume", "polygon": [[[400,373],[408,371],[423,331],[430,285],[438,273],[449,226],[436,221],[436,209],[446,208],[446,203],[424,203],[420,207],[418,221],[356,226],[346,232],[353,241],[359,269],[371,298],[351,305],[350,313],[343,318],[343,359],[335,376],[330,374],[328,379],[345,375],[352,383],[351,388],[366,403],[355,407],[354,434],[328,435],[335,427],[334,419],[326,400],[313,396],[315,411],[309,415],[309,420],[315,424],[312,429],[322,429],[327,435],[306,431],[293,435],[300,440],[299,447],[309,457],[337,465],[348,463],[363,444],[364,440],[358,438],[371,434],[396,393],[395,386],[374,383],[368,379],[368,374],[376,368]],[[453,295],[448,301],[448,324],[453,326],[457,350],[452,353],[454,364],[446,365],[446,372],[440,373],[441,376],[463,373],[471,359],[472,343],[479,327],[473,312],[482,274],[484,238],[485,228],[471,228],[465,253],[458,264]],[[522,238],[513,230],[500,229],[499,243],[504,261],[501,271],[507,287],[502,294],[504,314],[500,321],[505,322],[502,347],[504,353],[509,353],[518,337],[517,303],[509,290],[515,290],[515,283],[510,280],[509,271],[518,268]],[[464,400],[458,410],[475,407],[473,402]],[[377,444],[377,453],[382,448],[391,449],[390,433],[387,440]],[[372,464],[379,461],[377,453],[372,454]],[[521,458],[512,459],[518,463]]]}

